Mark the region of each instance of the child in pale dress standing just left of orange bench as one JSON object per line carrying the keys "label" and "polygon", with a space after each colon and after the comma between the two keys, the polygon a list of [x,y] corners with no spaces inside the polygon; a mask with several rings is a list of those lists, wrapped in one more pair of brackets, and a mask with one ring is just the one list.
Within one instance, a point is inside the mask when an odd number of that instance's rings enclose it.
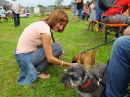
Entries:
{"label": "child in pale dress standing just left of orange bench", "polygon": [[[90,30],[90,31],[93,31],[93,28],[95,26],[95,24],[93,24],[93,20],[96,19],[95,3],[96,3],[96,0],[93,0],[92,4],[89,6],[90,20],[89,20],[87,30]],[[90,29],[91,26],[92,26],[92,28]]]}

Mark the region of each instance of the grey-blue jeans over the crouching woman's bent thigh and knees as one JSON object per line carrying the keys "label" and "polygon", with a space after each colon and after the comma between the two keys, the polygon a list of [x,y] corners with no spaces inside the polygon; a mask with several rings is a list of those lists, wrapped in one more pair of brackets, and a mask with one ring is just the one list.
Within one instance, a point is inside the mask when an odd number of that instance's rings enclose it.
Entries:
{"label": "grey-blue jeans over the crouching woman's bent thigh and knees", "polygon": [[[62,53],[61,45],[58,43],[53,43],[52,52],[54,57],[59,57]],[[49,65],[42,46],[39,46],[38,49],[32,53],[30,60],[39,72],[43,71]]]}

